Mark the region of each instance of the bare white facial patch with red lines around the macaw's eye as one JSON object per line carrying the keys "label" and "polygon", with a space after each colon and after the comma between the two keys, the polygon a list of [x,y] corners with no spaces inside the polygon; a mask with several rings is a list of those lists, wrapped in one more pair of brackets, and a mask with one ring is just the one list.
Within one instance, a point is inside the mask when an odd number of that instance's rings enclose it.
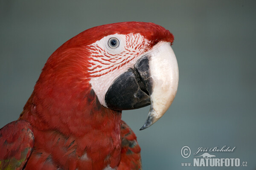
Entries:
{"label": "bare white facial patch with red lines around the macaw's eye", "polygon": [[[119,40],[117,48],[111,48],[108,41]],[[99,102],[106,107],[105,94],[113,81],[134,64],[145,53],[149,42],[141,34],[113,34],[89,45],[90,84]]]}

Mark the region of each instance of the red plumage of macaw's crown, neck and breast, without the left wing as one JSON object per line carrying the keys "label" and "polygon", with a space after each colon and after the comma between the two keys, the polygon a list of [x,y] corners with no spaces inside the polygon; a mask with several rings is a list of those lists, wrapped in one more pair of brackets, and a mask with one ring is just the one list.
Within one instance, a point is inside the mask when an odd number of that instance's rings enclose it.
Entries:
{"label": "red plumage of macaw's crown, neck and breast, without the left wing", "polygon": [[[151,46],[174,40],[168,30],[156,24],[126,22],[90,28],[61,45],[47,60],[20,114],[19,120],[28,121],[35,136],[25,169],[141,168],[140,147],[130,127],[121,122],[121,111],[103,107],[89,83],[91,52],[87,45],[116,33],[140,33]],[[17,128],[8,128],[10,134],[4,138],[11,138]],[[13,137],[13,147],[18,147],[17,136]]]}

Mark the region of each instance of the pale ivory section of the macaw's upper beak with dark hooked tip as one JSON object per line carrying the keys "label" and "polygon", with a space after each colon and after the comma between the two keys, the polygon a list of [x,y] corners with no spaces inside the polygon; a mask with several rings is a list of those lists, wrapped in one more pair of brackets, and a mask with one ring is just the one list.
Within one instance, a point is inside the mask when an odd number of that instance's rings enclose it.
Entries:
{"label": "pale ivory section of the macaw's upper beak with dark hooked tip", "polygon": [[177,59],[169,42],[153,49],[148,55],[151,79],[146,81],[152,81],[151,107],[140,130],[153,125],[166,113],[175,98],[179,81]]}

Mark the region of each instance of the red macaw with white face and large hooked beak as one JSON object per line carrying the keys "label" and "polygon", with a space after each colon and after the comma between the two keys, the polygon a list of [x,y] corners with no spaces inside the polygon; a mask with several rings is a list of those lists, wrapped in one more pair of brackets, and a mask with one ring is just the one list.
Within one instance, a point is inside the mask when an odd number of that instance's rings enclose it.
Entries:
{"label": "red macaw with white face and large hooked beak", "polygon": [[170,31],[123,22],[87,29],[47,60],[18,120],[0,130],[1,170],[141,170],[122,110],[172,104],[178,65]]}

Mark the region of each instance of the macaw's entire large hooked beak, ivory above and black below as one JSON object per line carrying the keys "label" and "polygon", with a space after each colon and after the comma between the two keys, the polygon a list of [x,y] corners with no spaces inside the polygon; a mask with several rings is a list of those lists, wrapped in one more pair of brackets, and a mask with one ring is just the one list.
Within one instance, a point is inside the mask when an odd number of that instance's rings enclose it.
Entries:
{"label": "macaw's entire large hooked beak, ivory above and black below", "polygon": [[159,42],[112,83],[105,104],[113,110],[150,106],[143,130],[160,119],[177,93],[179,71],[169,42]]}

